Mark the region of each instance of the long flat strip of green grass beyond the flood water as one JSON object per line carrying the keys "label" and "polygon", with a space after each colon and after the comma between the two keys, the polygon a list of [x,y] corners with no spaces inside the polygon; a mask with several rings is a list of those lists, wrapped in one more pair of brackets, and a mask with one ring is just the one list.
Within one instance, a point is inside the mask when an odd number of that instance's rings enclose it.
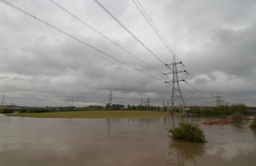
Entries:
{"label": "long flat strip of green grass beyond the flood water", "polygon": [[[173,116],[182,116],[174,113]],[[166,117],[166,112],[144,111],[84,111],[84,112],[45,112],[45,113],[18,113],[13,117],[47,117],[47,118],[152,118]]]}

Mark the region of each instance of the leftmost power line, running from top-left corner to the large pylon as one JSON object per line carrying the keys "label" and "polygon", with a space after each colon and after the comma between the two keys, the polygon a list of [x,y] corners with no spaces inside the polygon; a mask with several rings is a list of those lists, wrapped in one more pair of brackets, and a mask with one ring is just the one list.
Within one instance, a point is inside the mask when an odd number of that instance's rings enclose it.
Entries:
{"label": "leftmost power line, running from top-left corner to the large pylon", "polygon": [[20,12],[22,12],[22,13],[28,15],[28,16],[31,16],[33,19],[36,19],[36,20],[38,20],[38,21],[44,23],[46,26],[49,26],[49,27],[55,29],[56,31],[60,31],[61,33],[67,35],[68,37],[71,37],[71,38],[73,38],[74,40],[78,41],[79,43],[83,43],[84,45],[90,47],[91,49],[95,49],[96,51],[98,51],[98,52],[100,52],[100,53],[102,53],[102,54],[105,54],[105,55],[108,56],[109,58],[111,58],[111,59],[113,59],[113,60],[117,60],[117,61],[119,61],[119,63],[122,63],[122,64],[124,64],[125,66],[131,67],[132,69],[136,70],[137,72],[141,72],[141,73],[147,75],[148,77],[153,77],[154,79],[163,82],[163,81],[160,80],[159,78],[154,77],[154,76],[151,76],[151,75],[149,75],[149,74],[146,73],[146,72],[143,72],[143,71],[141,71],[141,70],[139,70],[139,69],[137,69],[137,68],[135,68],[135,67],[133,67],[133,66],[131,66],[131,65],[128,65],[128,64],[126,64],[125,62],[123,62],[123,61],[121,61],[121,60],[118,60],[117,58],[114,58],[112,55],[107,54],[107,53],[103,52],[103,51],[100,50],[100,49],[96,49],[95,47],[91,46],[89,43],[85,43],[84,41],[80,40],[80,39],[77,38],[77,37],[73,37],[71,34],[67,33],[66,31],[62,31],[61,29],[59,29],[59,28],[57,28],[57,27],[55,27],[55,26],[50,25],[49,23],[45,22],[44,20],[41,20],[41,19],[37,18],[36,16],[34,16],[34,15],[32,15],[32,14],[26,12],[26,11],[23,10],[23,9],[20,9],[19,7],[16,7],[16,6],[13,5],[12,3],[8,3],[8,2],[6,2],[6,1],[4,1],[4,0],[1,0],[1,1],[2,1],[3,3],[8,4],[10,7],[14,8],[14,9],[17,9],[17,10],[19,10]]}

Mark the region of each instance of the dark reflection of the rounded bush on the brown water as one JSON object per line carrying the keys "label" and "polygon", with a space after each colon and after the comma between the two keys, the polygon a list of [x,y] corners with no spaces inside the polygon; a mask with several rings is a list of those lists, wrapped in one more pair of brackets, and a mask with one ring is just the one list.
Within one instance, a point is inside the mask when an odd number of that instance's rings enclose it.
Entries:
{"label": "dark reflection of the rounded bush on the brown water", "polygon": [[170,140],[169,144],[169,165],[188,165],[188,162],[196,165],[202,155],[206,152],[205,143],[191,143],[177,140]]}

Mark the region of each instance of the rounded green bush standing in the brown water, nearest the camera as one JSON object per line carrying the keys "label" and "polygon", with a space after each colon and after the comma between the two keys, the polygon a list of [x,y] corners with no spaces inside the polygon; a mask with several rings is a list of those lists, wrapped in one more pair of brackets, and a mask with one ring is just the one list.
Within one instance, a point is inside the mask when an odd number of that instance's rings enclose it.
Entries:
{"label": "rounded green bush standing in the brown water, nearest the camera", "polygon": [[169,129],[170,137],[174,140],[187,142],[205,142],[206,138],[202,129],[196,123],[178,123],[179,127]]}

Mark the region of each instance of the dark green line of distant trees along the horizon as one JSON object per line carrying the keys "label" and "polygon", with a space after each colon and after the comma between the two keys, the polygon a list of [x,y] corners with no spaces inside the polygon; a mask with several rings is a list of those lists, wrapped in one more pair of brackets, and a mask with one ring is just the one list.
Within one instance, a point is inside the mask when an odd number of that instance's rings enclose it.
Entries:
{"label": "dark green line of distant trees along the horizon", "polygon": [[[250,107],[245,106],[244,104],[236,104],[231,106],[189,106],[186,108],[186,112],[193,114],[232,114],[234,112],[240,112],[241,114],[248,114]],[[102,110],[130,110],[130,111],[151,111],[151,112],[166,112],[167,106],[131,106],[119,104],[110,105],[109,103],[106,106],[84,106],[84,107],[75,107],[75,106],[57,106],[57,107],[48,107],[45,108],[20,108],[20,110],[9,109],[6,107],[0,108],[0,113],[14,113],[19,111],[20,113],[38,113],[38,112],[74,112],[74,111],[102,111]],[[172,110],[169,110],[172,112]],[[174,112],[182,112],[179,106],[175,107]]]}

